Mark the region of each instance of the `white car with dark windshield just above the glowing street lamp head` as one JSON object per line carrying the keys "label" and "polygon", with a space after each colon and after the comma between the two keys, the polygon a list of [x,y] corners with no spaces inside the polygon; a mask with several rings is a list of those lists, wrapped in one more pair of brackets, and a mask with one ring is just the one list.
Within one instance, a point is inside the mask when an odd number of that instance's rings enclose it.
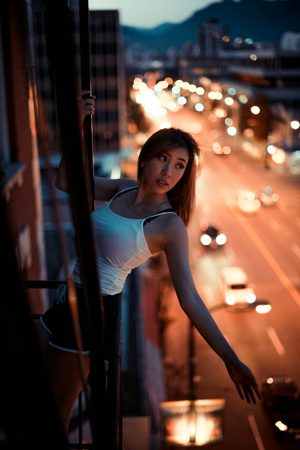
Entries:
{"label": "white car with dark windshield just above the glowing street lamp head", "polygon": [[253,286],[242,267],[223,267],[219,283],[223,301],[231,311],[247,310],[256,301]]}

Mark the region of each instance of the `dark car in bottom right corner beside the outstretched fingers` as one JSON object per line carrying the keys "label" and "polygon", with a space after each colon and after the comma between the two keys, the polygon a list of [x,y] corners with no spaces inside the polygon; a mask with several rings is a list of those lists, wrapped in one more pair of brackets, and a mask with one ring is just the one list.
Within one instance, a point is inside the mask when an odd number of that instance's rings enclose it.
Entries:
{"label": "dark car in bottom right corner beside the outstretched fingers", "polygon": [[300,389],[288,374],[266,376],[260,380],[262,404],[278,441],[299,441]]}

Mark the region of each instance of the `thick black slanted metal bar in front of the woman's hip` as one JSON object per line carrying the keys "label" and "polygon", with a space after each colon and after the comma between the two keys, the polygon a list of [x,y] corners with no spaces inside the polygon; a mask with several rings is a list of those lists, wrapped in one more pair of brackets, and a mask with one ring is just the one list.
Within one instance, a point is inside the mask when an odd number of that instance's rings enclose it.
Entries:
{"label": "thick black slanted metal bar in front of the woman's hip", "polygon": [[[70,201],[84,297],[90,325],[92,325],[90,326],[90,424],[93,443],[100,444],[103,436],[105,436],[105,411],[100,406],[105,403],[106,389],[102,327],[103,305],[99,293],[93,231],[89,215],[88,197],[91,193],[87,190],[84,178],[81,136],[78,129],[69,9],[66,0],[60,2],[58,14],[55,2],[46,1],[46,6],[49,20],[48,38],[53,50],[52,58],[62,152],[66,158],[67,180],[70,186]],[[56,24],[55,27],[53,27],[53,23]],[[59,33],[57,33],[57,30],[59,30]],[[68,92],[66,92],[66,86]],[[66,106],[68,114],[66,114]]]}

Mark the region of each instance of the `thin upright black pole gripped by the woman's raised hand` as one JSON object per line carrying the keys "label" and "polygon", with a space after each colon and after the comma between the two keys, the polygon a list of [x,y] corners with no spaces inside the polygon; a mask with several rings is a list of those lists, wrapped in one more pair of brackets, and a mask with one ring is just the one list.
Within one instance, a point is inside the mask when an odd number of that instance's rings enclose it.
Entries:
{"label": "thin upright black pole gripped by the woman's raised hand", "polygon": [[[79,32],[80,32],[80,66],[81,66],[81,89],[92,90],[91,65],[90,65],[90,42],[89,42],[89,12],[88,0],[79,0]],[[83,98],[90,98],[84,95]],[[94,200],[94,161],[93,161],[93,116],[84,119],[84,170],[88,188],[92,193],[90,198],[90,211],[95,210]]]}

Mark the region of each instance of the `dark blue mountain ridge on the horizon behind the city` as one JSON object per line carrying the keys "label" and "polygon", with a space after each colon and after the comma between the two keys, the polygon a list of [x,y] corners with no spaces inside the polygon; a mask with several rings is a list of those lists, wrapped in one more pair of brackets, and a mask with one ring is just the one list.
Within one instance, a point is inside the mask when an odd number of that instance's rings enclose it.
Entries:
{"label": "dark blue mountain ridge on the horizon behind the city", "polygon": [[200,9],[182,23],[163,23],[155,28],[123,27],[125,45],[135,51],[182,49],[197,42],[197,27],[216,19],[228,27],[230,40],[251,38],[278,44],[285,31],[300,31],[299,0],[224,0]]}

